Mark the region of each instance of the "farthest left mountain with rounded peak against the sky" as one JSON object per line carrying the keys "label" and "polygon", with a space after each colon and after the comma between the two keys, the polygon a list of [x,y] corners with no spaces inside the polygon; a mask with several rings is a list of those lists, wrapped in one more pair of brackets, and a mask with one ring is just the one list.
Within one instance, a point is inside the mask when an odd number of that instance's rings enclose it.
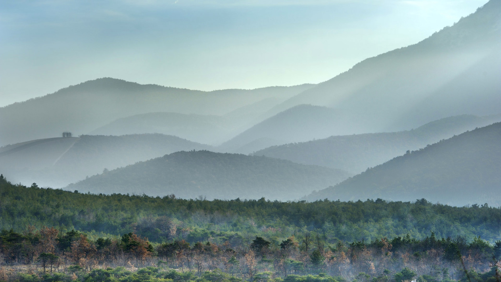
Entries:
{"label": "farthest left mountain with rounded peak against the sky", "polygon": [[119,118],[151,112],[223,115],[259,101],[271,103],[270,108],[312,86],[206,92],[101,78],[0,108],[0,145],[63,131],[86,134]]}

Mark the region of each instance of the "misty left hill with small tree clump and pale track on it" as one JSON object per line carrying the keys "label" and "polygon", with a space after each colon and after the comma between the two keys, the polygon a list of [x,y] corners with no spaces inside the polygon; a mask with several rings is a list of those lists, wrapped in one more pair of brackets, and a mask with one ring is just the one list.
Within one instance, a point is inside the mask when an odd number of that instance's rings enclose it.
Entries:
{"label": "misty left hill with small tree clump and pale track on it", "polygon": [[64,187],[104,169],[210,148],[162,134],[46,138],[0,148],[0,172],[14,183]]}

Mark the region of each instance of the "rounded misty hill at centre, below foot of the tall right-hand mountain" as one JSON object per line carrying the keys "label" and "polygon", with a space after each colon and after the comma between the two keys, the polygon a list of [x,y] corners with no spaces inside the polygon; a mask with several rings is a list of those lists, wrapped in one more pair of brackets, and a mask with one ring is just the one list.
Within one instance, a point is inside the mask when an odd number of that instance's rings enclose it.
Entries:
{"label": "rounded misty hill at centre, below foot of the tall right-hand mountain", "polygon": [[218,149],[248,154],[273,145],[325,138],[344,127],[344,121],[336,110],[298,105],[250,127],[223,143]]}

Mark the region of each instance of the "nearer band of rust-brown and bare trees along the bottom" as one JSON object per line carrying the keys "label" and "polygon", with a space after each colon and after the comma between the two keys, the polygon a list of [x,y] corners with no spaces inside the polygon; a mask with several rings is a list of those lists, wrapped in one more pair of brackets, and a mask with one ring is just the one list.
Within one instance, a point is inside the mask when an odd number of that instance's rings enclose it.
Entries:
{"label": "nearer band of rust-brown and bare trees along the bottom", "polygon": [[[72,274],[73,279],[80,277],[94,281],[96,275],[111,271],[103,270],[108,266],[129,269],[161,266],[183,273],[188,271],[191,278],[222,275],[226,279],[236,277],[236,280],[251,281],[277,277],[294,280],[293,277],[304,275],[328,275],[331,281],[405,281],[413,278],[451,281],[468,278],[470,274],[486,273],[491,267],[495,270],[495,263],[501,256],[501,240],[490,245],[479,237],[471,242],[462,237],[438,239],[432,232],[423,240],[407,234],[371,242],[329,244],[318,233],[305,233],[291,236],[280,244],[263,237],[238,246],[209,241],[190,244],[185,240],[151,244],[147,238],[132,232],[121,237],[93,240],[75,230],[63,233],[45,227],[40,230],[29,228],[23,233],[3,230],[0,233],[0,256],[3,264],[36,265],[34,274],[41,276],[9,274],[2,267],[5,280],[20,281],[45,279],[43,274],[47,272],[64,272]],[[151,271],[159,270],[149,268],[148,271],[151,274]]]}

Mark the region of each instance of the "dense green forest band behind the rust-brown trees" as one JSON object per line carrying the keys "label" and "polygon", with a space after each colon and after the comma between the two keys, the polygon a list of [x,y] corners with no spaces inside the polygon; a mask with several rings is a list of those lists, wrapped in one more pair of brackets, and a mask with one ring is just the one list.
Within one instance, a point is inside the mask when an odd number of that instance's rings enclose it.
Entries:
{"label": "dense green forest band behind the rust-brown trees", "polygon": [[[170,222],[170,223],[169,223]],[[23,232],[26,226],[72,229],[92,236],[121,236],[136,232],[153,242],[184,239],[234,242],[256,236],[274,242],[313,231],[329,243],[405,236],[424,239],[476,236],[491,243],[499,239],[501,209],[487,205],[451,207],[381,199],[339,202],[279,202],[260,200],[196,200],[175,196],[92,195],[13,185],[0,177],[0,230]]]}

